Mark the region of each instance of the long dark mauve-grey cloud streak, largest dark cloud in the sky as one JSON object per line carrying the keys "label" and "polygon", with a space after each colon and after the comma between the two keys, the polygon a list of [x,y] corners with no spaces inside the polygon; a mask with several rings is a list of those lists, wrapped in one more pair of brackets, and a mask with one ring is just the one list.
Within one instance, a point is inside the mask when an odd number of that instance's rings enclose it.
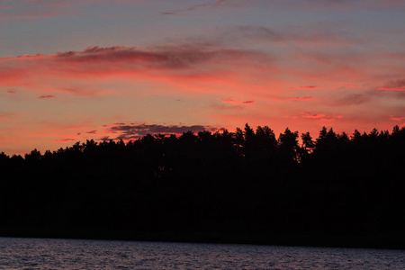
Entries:
{"label": "long dark mauve-grey cloud streak, largest dark cloud in the sky", "polygon": [[113,63],[119,69],[130,67],[130,69],[137,71],[145,68],[175,70],[194,66],[201,67],[200,65],[204,63],[228,63],[230,65],[240,63],[240,61],[267,63],[273,58],[267,53],[257,50],[229,49],[211,42],[193,42],[154,46],[149,49],[94,46],[83,51],[58,53],[57,59],[68,63],[83,63],[86,67],[90,64]]}

